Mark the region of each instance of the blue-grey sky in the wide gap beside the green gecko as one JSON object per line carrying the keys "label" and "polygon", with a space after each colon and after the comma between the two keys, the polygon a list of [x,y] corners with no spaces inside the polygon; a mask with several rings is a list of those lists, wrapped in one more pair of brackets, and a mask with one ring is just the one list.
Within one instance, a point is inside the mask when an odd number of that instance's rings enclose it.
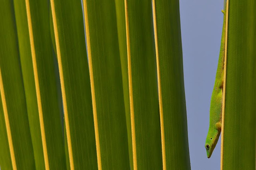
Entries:
{"label": "blue-grey sky in the wide gap beside the green gecko", "polygon": [[210,159],[204,148],[220,52],[223,0],[180,0],[188,142],[192,170],[220,169],[220,140]]}

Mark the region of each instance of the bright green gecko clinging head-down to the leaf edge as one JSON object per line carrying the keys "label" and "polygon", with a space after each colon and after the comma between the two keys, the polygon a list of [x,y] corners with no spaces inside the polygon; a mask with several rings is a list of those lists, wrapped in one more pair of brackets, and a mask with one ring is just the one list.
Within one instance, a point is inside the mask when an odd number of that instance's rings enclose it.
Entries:
{"label": "bright green gecko clinging head-down to the leaf edge", "polygon": [[221,45],[220,45],[220,55],[219,55],[216,79],[214,83],[214,89],[212,91],[212,98],[211,98],[211,105],[210,105],[210,125],[209,125],[209,130],[208,130],[208,134],[205,142],[205,148],[206,148],[208,158],[211,157],[221,132],[225,37],[226,37],[226,7],[225,7],[225,11],[222,10],[222,12],[224,14],[224,20],[223,20],[222,37],[221,37]]}

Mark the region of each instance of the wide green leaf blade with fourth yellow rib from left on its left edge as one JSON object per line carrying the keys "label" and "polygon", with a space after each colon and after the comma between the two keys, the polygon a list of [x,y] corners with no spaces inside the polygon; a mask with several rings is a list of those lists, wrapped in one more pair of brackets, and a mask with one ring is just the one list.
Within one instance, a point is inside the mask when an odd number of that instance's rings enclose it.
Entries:
{"label": "wide green leaf blade with fourth yellow rib from left on its left edge", "polygon": [[84,0],[98,169],[130,170],[116,9]]}

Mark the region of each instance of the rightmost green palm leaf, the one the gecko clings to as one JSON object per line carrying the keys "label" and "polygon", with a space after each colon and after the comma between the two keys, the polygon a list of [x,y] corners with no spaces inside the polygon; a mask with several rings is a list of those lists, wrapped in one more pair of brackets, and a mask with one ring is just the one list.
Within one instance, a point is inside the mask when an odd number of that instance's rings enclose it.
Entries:
{"label": "rightmost green palm leaf, the one the gecko clings to", "polygon": [[222,116],[221,169],[224,170],[255,169],[255,9],[255,0],[229,1],[226,95]]}

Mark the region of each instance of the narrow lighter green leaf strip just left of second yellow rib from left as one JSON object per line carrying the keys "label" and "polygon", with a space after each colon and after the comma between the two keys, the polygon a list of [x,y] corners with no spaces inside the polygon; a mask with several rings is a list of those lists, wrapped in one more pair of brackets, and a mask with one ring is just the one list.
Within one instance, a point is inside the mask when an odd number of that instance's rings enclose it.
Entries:
{"label": "narrow lighter green leaf strip just left of second yellow rib from left", "polygon": [[18,33],[20,62],[26,95],[26,106],[30,125],[30,134],[34,150],[34,159],[37,169],[44,169],[44,153],[39,123],[39,114],[36,99],[36,86],[34,81],[30,40],[28,33],[28,20],[25,1],[14,0],[15,19]]}

